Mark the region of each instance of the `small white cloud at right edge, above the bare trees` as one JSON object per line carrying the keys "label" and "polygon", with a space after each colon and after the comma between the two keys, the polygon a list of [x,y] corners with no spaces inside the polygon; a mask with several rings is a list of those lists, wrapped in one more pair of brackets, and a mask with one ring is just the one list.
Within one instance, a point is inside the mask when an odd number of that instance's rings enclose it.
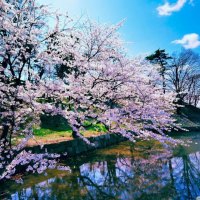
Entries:
{"label": "small white cloud at right edge, above the bare trees", "polygon": [[199,35],[196,33],[186,34],[180,40],[174,40],[172,43],[181,44],[185,49],[194,49],[200,46]]}

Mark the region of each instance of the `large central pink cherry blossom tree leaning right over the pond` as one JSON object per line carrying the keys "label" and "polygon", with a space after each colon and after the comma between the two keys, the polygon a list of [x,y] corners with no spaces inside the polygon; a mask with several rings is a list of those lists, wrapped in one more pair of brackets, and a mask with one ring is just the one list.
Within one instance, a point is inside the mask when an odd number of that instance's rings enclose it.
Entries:
{"label": "large central pink cherry blossom tree leaning right over the pond", "polygon": [[74,135],[80,136],[87,120],[132,141],[137,137],[170,140],[164,132],[175,126],[174,95],[155,86],[158,72],[144,59],[127,58],[116,32],[121,23],[108,27],[86,21],[84,25],[79,41],[82,73],[65,78]]}

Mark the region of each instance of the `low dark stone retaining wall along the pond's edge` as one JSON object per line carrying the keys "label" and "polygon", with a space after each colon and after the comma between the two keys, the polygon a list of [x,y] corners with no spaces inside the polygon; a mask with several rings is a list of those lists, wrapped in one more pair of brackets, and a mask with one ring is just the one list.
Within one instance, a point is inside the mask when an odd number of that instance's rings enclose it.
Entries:
{"label": "low dark stone retaining wall along the pond's edge", "polygon": [[55,144],[46,144],[42,149],[40,146],[29,147],[27,150],[31,150],[33,153],[48,152],[58,153],[61,155],[63,153],[67,153],[67,156],[76,156],[95,149],[105,148],[126,140],[122,136],[116,134],[105,134],[96,137],[90,137],[88,139],[95,145],[91,146],[81,139],[74,139]]}

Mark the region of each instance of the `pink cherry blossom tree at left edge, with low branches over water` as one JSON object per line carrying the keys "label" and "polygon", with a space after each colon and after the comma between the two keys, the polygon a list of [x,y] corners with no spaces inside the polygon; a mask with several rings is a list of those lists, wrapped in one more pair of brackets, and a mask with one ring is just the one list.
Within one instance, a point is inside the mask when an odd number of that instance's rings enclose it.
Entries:
{"label": "pink cherry blossom tree at left edge, with low branches over water", "polygon": [[[51,16],[56,21],[53,28],[46,22]],[[31,154],[24,147],[42,113],[61,112],[58,102],[65,85],[53,79],[52,73],[63,62],[57,36],[70,29],[67,22],[62,28],[59,23],[59,15],[52,15],[35,0],[0,2],[0,180],[15,173],[19,164],[34,163],[27,170],[38,172],[54,164],[47,160],[54,155]],[[19,135],[24,139],[15,146],[12,139]]]}

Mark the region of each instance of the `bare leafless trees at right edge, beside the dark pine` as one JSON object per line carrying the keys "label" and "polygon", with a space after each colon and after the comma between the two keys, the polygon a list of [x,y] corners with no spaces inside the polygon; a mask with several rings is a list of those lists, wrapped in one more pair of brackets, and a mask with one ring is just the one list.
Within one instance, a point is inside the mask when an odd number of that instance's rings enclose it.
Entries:
{"label": "bare leafless trees at right edge, beside the dark pine", "polygon": [[199,101],[200,55],[192,50],[173,53],[168,69],[168,87],[176,92],[177,102],[197,106]]}

